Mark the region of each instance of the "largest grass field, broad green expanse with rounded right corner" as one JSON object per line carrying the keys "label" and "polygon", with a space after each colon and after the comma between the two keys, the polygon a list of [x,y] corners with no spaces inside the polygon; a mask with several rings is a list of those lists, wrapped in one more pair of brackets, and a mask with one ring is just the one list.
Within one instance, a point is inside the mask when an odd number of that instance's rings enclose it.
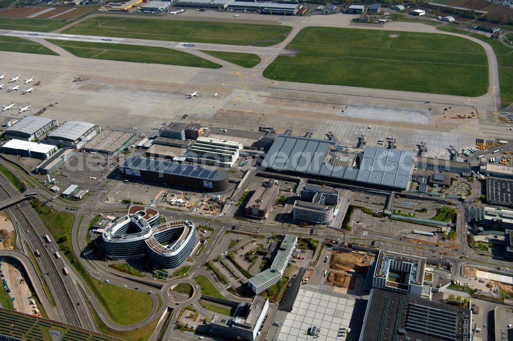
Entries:
{"label": "largest grass field, broad green expanse with rounded right corner", "polygon": [[[488,87],[484,49],[444,34],[309,27],[264,71],[273,80],[480,96]],[[390,36],[392,35],[392,37]],[[443,81],[442,81],[442,78]]]}

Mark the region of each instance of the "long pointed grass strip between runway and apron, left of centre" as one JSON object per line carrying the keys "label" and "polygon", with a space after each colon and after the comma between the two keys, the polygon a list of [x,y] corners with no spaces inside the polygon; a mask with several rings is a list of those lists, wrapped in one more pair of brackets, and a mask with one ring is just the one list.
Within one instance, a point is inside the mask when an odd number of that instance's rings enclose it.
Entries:
{"label": "long pointed grass strip between runway and apron, left of centre", "polygon": [[194,56],[190,53],[161,47],[54,39],[49,39],[48,41],[81,58],[180,65],[209,69],[221,68],[219,64]]}

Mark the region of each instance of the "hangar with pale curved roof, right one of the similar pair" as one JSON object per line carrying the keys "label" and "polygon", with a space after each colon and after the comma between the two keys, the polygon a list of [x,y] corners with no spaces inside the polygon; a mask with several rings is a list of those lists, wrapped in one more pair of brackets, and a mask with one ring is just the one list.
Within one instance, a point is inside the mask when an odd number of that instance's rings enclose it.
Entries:
{"label": "hangar with pale curved roof, right one of the similar pair", "polygon": [[55,145],[62,144],[64,147],[80,149],[99,132],[101,132],[101,129],[96,124],[82,121],[67,121],[49,133],[46,140]]}

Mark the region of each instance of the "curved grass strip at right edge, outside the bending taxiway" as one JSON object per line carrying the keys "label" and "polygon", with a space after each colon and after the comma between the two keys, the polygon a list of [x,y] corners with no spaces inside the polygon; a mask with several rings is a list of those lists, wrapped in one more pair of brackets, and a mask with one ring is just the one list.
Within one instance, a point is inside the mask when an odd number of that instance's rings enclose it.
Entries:
{"label": "curved grass strip at right edge, outside the bending taxiway", "polygon": [[490,39],[482,34],[472,34],[471,36],[487,42],[494,49],[499,64],[501,104],[503,106],[511,104],[513,102],[513,49],[497,39]]}

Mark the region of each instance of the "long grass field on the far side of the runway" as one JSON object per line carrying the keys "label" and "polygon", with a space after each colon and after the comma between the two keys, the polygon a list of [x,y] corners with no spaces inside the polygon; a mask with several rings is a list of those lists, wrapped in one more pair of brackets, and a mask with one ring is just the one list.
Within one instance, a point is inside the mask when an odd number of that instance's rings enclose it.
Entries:
{"label": "long grass field on the far side of the runway", "polygon": [[64,30],[63,33],[210,42],[212,44],[270,46],[283,41],[290,30],[290,27],[280,25],[98,16],[78,23]]}

